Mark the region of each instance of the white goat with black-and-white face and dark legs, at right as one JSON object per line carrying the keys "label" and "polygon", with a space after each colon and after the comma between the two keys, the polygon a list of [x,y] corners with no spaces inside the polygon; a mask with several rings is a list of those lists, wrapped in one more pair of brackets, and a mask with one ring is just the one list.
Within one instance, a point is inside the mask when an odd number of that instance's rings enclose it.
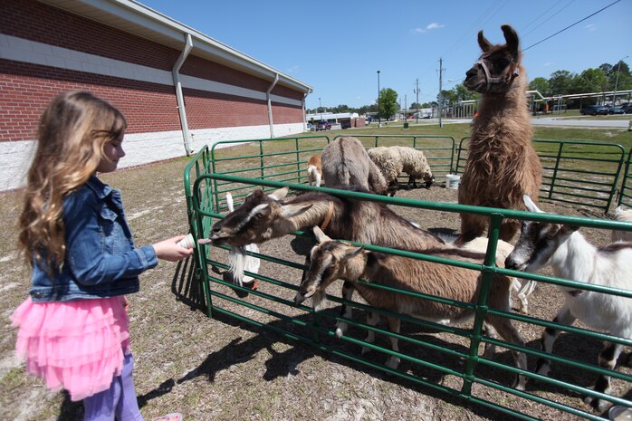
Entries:
{"label": "white goat with black-and-white face and dark legs, at right", "polygon": [[[529,196],[523,196],[524,204],[531,212],[541,212]],[[519,271],[535,272],[551,266],[558,278],[587,282],[623,290],[632,290],[632,243],[613,243],[605,247],[590,244],[577,226],[524,221],[522,234],[507,257],[505,267]],[[580,320],[595,330],[608,332],[620,338],[632,339],[632,299],[568,287],[559,287],[565,302],[553,321],[572,324]],[[542,349],[551,353],[560,331],[547,328],[542,335]],[[599,354],[599,366],[615,368],[623,346],[606,342]],[[549,372],[550,361],[540,359],[537,371]],[[608,393],[610,379],[599,375],[595,390]],[[587,397],[586,402],[603,411],[608,402]]]}

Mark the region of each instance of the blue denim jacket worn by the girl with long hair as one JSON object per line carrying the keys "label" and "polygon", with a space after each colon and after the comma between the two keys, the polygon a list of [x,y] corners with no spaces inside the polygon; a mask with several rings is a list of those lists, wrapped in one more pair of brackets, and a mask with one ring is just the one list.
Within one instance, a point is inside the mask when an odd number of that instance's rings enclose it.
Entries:
{"label": "blue denim jacket worn by the girl with long hair", "polygon": [[97,177],[63,200],[66,254],[50,276],[34,262],[33,301],[71,301],[139,291],[139,274],[156,266],[151,245],[135,248],[120,191]]}

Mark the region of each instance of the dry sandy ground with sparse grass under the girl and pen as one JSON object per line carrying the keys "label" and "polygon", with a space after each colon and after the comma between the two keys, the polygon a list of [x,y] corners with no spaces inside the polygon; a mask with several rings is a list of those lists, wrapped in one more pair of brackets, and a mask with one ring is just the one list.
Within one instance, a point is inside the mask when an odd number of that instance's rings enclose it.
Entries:
{"label": "dry sandy ground with sparse grass under the girl and pen", "polygon": [[[112,187],[121,188],[129,223],[137,244],[151,244],[188,230],[182,171],[183,159],[119,171],[103,177]],[[456,202],[456,191],[441,186],[430,189],[402,191],[398,196],[416,197],[438,202]],[[573,209],[543,203],[544,210],[564,215],[600,217],[586,209]],[[0,419],[3,420],[72,420],[81,419],[81,404],[72,403],[62,393],[43,387],[41,380],[28,376],[24,367],[13,357],[15,330],[9,316],[24,300],[30,280],[24,264],[16,253],[15,221],[21,208],[20,192],[1,196],[0,224],[5,227],[5,241],[0,244],[0,291],[5,297],[0,313],[3,331],[0,340]],[[442,231],[458,228],[458,215],[448,212],[397,208],[396,211],[416,221],[426,229]],[[609,233],[582,229],[595,244],[608,243]],[[302,262],[292,251],[291,237],[261,246],[263,254]],[[139,404],[147,419],[172,411],[182,412],[187,420],[251,419],[251,420],[493,420],[511,419],[506,415],[478,405],[468,405],[459,397],[433,388],[420,386],[407,379],[388,375],[337,354],[312,348],[292,338],[253,326],[235,317],[215,311],[207,318],[195,304],[197,285],[191,282],[192,263],[161,262],[158,268],[141,277],[141,291],[130,301],[131,338],[136,360],[135,382]],[[300,273],[273,263],[262,263],[261,273],[284,282],[298,284]],[[235,293],[223,286],[216,291],[233,298]],[[330,293],[338,295],[334,285]],[[259,291],[285,300],[292,300],[293,291],[262,282]],[[272,328],[307,335],[300,323],[311,323],[311,314],[273,303],[251,294],[247,299],[255,305],[273,311],[292,314],[295,320],[279,321],[254,309],[231,301],[214,299],[226,311],[253,318]],[[560,308],[562,297],[554,287],[539,284],[530,297],[530,315],[551,319]],[[330,303],[332,313],[339,306]],[[364,314],[355,311],[354,319],[362,321]],[[326,313],[325,313],[326,314]],[[319,322],[330,330],[333,321],[323,315]],[[384,324],[380,324],[384,326]],[[520,324],[519,329],[528,346],[538,348],[541,328]],[[407,323],[403,332],[436,345],[465,351],[465,340],[445,333],[434,334]],[[364,331],[350,329],[350,337],[364,338]],[[340,353],[359,357],[359,345],[334,340],[322,335],[321,340]],[[377,336],[377,343],[388,347],[388,340]],[[419,349],[400,343],[400,349],[419,359],[438,361],[455,370],[461,361],[430,349]],[[555,351],[570,358],[595,363],[600,343],[574,334],[562,334]],[[366,357],[383,364],[387,356],[372,352]],[[500,350],[498,361],[511,364],[509,352]],[[529,359],[529,367],[534,367]],[[400,369],[450,388],[460,388],[461,380],[435,370],[403,361]],[[629,368],[619,368],[630,373]],[[484,377],[501,384],[510,384],[511,376],[501,370],[484,368]],[[594,376],[577,369],[554,365],[552,378],[588,387]],[[630,399],[629,384],[615,380],[615,396]],[[571,407],[590,411],[582,397],[562,388],[531,385],[528,390],[538,396],[563,402]],[[512,397],[509,394],[476,386],[474,394],[514,407],[541,419],[576,419],[549,407]]]}

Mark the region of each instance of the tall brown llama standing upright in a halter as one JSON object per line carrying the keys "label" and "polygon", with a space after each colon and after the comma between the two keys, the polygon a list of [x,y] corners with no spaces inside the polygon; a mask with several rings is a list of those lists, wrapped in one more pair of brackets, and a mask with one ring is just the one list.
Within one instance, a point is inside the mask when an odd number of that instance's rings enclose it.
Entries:
{"label": "tall brown llama standing upright in a halter", "polygon": [[[524,210],[523,195],[538,197],[542,167],[531,145],[528,83],[518,34],[507,24],[501,29],[507,41],[503,45],[492,45],[483,31],[478,33],[483,54],[465,73],[464,86],[483,98],[472,128],[458,203]],[[462,214],[458,243],[483,234],[487,219]],[[519,226],[519,221],[505,219],[500,238],[511,241]]]}

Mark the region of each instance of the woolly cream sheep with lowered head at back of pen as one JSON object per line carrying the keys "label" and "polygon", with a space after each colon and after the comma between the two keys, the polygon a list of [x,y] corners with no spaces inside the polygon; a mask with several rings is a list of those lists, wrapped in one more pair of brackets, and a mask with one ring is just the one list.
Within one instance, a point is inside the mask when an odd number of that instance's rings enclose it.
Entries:
{"label": "woolly cream sheep with lowered head at back of pen", "polygon": [[426,187],[435,181],[426,155],[421,150],[402,146],[378,147],[367,150],[369,158],[378,166],[386,178],[389,188],[397,187],[397,177],[408,175],[408,187],[417,187],[416,180],[424,179]]}

